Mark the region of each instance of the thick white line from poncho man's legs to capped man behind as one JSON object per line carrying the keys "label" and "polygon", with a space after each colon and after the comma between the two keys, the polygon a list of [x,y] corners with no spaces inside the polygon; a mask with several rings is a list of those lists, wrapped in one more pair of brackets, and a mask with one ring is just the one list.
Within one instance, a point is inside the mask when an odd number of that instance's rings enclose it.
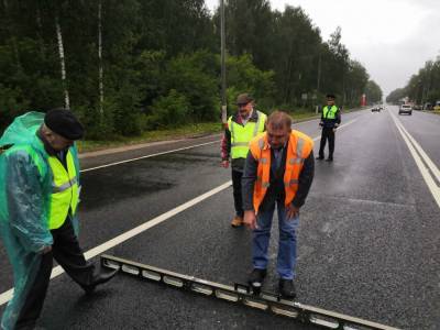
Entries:
{"label": "thick white line from poncho man's legs to capped man behind", "polygon": [[[135,235],[139,235],[140,233],[146,231],[147,229],[150,229],[156,224],[160,224],[161,222],[164,222],[165,220],[185,211],[186,209],[189,209],[190,207],[201,202],[202,200],[229,188],[231,185],[232,185],[232,182],[229,180],[229,182],[218,186],[217,188],[209,190],[208,193],[205,193],[205,194],[202,194],[202,195],[200,195],[200,196],[198,196],[198,197],[196,197],[196,198],[194,198],[194,199],[191,199],[191,200],[189,200],[165,213],[162,213],[161,216],[158,216],[156,218],[153,218],[153,219],[138,226],[136,228],[133,228],[133,229],[116,237],[114,239],[112,239],[110,241],[107,241],[106,243],[102,243],[101,245],[98,245],[98,246],[87,251],[84,255],[85,255],[86,260],[95,257],[95,256],[101,254],[102,252],[106,252],[107,250],[112,249],[112,248],[125,242],[127,240],[130,240],[130,239],[134,238]],[[54,278],[63,273],[64,273],[64,270],[61,266],[56,266],[52,270],[51,278]],[[12,298],[12,293],[13,293],[13,289],[9,289],[8,292],[0,295],[0,306],[8,302]]]}

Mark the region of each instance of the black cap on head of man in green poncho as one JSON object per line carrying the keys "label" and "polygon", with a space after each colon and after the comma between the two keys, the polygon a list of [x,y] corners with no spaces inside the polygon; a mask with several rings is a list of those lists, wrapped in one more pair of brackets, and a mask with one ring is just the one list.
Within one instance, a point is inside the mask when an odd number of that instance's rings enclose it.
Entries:
{"label": "black cap on head of man in green poncho", "polygon": [[79,140],[84,136],[84,127],[69,109],[58,108],[47,111],[44,123],[50,130],[67,140]]}

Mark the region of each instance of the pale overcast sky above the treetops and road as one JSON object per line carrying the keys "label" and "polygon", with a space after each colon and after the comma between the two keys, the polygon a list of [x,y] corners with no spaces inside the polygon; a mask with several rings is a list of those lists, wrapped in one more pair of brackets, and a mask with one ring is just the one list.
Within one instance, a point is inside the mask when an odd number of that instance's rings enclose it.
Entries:
{"label": "pale overcast sky above the treetops and road", "polygon": [[[206,0],[210,10],[219,0]],[[342,43],[388,95],[440,55],[440,0],[271,0],[272,9],[300,6],[324,41],[342,28]],[[227,28],[228,29],[228,28]]]}

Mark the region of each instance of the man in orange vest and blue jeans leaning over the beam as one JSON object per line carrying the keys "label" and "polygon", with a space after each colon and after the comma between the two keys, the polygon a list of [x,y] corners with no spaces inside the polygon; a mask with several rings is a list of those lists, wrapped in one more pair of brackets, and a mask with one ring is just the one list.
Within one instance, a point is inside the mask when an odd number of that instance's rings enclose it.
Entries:
{"label": "man in orange vest and blue jeans leaning over the beam", "polygon": [[250,285],[258,290],[267,270],[267,250],[275,205],[279,243],[279,294],[295,298],[296,228],[299,208],[309,193],[315,172],[314,142],[292,130],[292,118],[273,112],[266,132],[252,140],[242,177],[244,224],[253,230],[253,272]]}

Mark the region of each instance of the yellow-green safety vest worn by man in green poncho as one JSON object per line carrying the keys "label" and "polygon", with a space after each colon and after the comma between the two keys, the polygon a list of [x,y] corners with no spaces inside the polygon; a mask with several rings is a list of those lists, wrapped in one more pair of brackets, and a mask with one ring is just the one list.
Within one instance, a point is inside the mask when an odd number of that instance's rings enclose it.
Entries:
{"label": "yellow-green safety vest worn by man in green poncho", "polygon": [[72,215],[76,213],[79,201],[78,179],[70,151],[66,156],[67,170],[57,157],[51,156],[47,161],[53,176],[48,227],[57,229],[63,226],[69,210]]}

